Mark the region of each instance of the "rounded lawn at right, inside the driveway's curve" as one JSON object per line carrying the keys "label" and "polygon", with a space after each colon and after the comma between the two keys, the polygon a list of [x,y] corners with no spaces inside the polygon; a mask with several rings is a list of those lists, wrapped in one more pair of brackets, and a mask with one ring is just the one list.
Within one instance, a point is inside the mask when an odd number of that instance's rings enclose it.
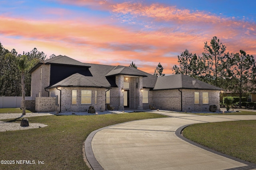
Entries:
{"label": "rounded lawn at right, inside the driveway's curve", "polygon": [[194,124],[186,127],[183,135],[210,149],[256,164],[256,120]]}

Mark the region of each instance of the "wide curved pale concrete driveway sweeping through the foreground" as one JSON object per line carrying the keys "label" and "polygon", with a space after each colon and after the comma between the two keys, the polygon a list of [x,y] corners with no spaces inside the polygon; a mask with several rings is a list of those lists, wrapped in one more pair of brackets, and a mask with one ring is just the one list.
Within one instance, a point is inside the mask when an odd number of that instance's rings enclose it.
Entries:
{"label": "wide curved pale concrete driveway sweeping through the foreground", "polygon": [[[154,111],[153,113],[157,113]],[[256,115],[201,116],[158,112],[167,118],[112,125],[92,132],[85,142],[94,170],[225,170],[254,169],[255,164],[205,150],[185,141],[186,125],[203,122],[256,120]]]}

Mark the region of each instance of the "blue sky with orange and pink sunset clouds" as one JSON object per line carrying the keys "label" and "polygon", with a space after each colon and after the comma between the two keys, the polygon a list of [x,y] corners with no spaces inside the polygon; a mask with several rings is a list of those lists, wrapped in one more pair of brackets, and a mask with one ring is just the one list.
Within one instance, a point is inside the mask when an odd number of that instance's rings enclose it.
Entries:
{"label": "blue sky with orange and pink sunset clouds", "polygon": [[0,0],[0,42],[18,54],[173,73],[186,49],[202,56],[216,36],[226,52],[256,57],[254,0]]}

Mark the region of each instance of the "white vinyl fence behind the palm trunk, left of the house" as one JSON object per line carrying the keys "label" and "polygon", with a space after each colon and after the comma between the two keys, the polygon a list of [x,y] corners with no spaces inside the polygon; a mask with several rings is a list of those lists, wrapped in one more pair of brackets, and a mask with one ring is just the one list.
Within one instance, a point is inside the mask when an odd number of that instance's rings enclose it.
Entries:
{"label": "white vinyl fence behind the palm trunk, left of the house", "polygon": [[[0,96],[0,108],[17,108],[20,107],[21,96]],[[25,100],[32,100],[31,96],[26,96]]]}

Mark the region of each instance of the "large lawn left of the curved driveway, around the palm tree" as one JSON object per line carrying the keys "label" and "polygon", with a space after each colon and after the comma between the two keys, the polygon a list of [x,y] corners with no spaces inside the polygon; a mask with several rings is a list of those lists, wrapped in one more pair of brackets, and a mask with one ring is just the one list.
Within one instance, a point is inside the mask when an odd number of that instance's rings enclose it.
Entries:
{"label": "large lawn left of the curved driveway, around the palm tree", "polygon": [[[159,117],[166,116],[140,112],[28,117],[30,123],[44,123],[48,127],[0,132],[0,160],[35,160],[36,162],[39,160],[44,161],[44,164],[0,164],[0,169],[89,169],[82,157],[82,145],[92,131],[126,121]],[[5,121],[20,123],[21,119]]]}

